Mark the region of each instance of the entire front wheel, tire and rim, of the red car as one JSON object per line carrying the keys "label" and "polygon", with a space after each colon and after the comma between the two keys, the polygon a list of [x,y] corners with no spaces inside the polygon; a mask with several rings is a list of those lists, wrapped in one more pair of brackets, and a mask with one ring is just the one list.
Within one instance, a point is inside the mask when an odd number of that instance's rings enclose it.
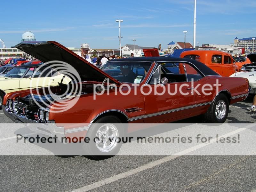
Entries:
{"label": "entire front wheel, tire and rim, of the red car", "polygon": [[94,159],[116,155],[122,146],[120,139],[124,135],[121,123],[116,116],[105,116],[93,123],[86,134],[90,142],[83,145],[86,153]]}

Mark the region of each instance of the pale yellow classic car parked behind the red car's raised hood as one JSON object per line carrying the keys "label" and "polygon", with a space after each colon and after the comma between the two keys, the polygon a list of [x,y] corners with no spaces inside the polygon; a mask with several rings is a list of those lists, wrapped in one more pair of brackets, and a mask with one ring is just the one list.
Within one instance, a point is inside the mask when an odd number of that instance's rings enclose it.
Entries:
{"label": "pale yellow classic car parked behind the red car's raised hood", "polygon": [[[63,77],[64,75],[57,72],[54,68],[40,66],[41,64],[31,64],[14,67],[5,76],[0,77],[0,107],[6,93],[56,86],[63,78],[67,78]],[[65,79],[65,82],[68,83],[70,81],[68,79]]]}

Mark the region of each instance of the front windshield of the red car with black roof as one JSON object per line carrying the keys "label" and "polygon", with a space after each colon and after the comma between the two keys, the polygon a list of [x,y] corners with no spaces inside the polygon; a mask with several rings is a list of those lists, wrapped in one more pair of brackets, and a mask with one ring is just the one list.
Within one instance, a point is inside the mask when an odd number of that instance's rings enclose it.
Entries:
{"label": "front windshield of the red car with black roof", "polygon": [[151,62],[107,62],[102,71],[125,83],[140,83],[146,76]]}

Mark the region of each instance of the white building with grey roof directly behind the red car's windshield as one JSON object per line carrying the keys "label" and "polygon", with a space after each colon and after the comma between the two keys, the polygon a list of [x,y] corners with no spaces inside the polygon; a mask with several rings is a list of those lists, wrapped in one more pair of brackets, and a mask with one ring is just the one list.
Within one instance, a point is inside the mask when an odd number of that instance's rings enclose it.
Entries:
{"label": "white building with grey roof directly behind the red car's windshield", "polygon": [[156,47],[140,47],[134,44],[126,44],[122,48],[122,56],[123,57],[130,57],[133,53],[135,57],[142,57],[144,56],[143,49],[154,49]]}

